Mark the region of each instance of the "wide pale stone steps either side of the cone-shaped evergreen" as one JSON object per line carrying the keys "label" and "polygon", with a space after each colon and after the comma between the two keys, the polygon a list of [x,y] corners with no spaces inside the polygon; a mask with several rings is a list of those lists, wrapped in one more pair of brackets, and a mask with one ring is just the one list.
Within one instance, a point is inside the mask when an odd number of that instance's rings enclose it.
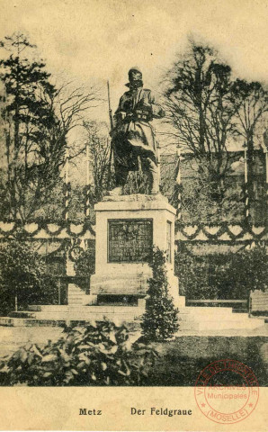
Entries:
{"label": "wide pale stone steps either side of the cone-shaped evergreen", "polygon": [[[138,306],[114,305],[40,305],[31,306],[38,311],[13,312],[7,319],[0,319],[0,325],[49,325],[48,323],[77,321],[80,323],[90,320],[116,320],[118,322],[134,322],[140,320],[144,309]],[[8,321],[8,320],[17,321]],[[2,321],[1,321],[2,320]],[[4,321],[5,320],[5,321]],[[43,323],[43,324],[42,324]],[[185,307],[179,310],[180,331],[201,330],[229,330],[229,329],[260,329],[264,327],[264,320],[249,318],[247,313],[232,313],[231,308],[224,307]],[[56,325],[56,324],[52,324]]]}

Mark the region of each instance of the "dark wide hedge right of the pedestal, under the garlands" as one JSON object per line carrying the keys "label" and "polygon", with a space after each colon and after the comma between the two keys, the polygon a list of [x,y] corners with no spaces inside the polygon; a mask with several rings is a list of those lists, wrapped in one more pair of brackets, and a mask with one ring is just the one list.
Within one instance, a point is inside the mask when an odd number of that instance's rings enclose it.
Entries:
{"label": "dark wide hedge right of the pedestal, under the garlands", "polygon": [[267,288],[265,247],[237,253],[194,256],[180,245],[175,274],[187,299],[248,299],[250,291]]}

